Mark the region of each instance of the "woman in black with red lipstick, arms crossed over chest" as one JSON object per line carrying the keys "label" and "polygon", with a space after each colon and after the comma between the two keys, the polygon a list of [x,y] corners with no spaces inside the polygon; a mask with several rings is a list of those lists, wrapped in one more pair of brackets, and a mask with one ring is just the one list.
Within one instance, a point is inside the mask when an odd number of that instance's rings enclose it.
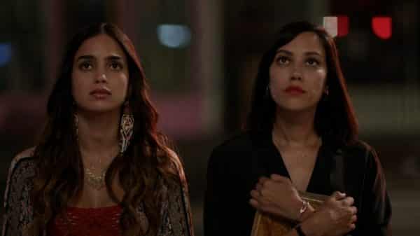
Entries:
{"label": "woman in black with red lipstick, arms crossed over chest", "polygon": [[[384,174],[357,126],[332,37],[284,26],[262,56],[245,131],[211,153],[205,235],[251,235],[255,210],[296,222],[286,235],[391,235]],[[329,197],[315,211],[304,192]]]}

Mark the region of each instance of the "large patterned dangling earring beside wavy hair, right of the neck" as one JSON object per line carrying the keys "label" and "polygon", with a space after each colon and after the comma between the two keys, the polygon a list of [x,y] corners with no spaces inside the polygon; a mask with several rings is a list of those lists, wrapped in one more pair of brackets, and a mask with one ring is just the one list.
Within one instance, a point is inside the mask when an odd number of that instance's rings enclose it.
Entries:
{"label": "large patterned dangling earring beside wavy hair, right of the neck", "polygon": [[124,104],[123,116],[121,116],[120,122],[120,154],[123,154],[127,150],[128,145],[130,145],[133,129],[134,116],[130,112],[130,106],[127,101]]}

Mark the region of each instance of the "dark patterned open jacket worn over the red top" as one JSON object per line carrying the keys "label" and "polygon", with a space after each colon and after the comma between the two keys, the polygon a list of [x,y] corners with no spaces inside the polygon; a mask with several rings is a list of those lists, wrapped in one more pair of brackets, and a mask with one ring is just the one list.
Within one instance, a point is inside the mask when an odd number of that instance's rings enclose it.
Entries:
{"label": "dark patterned open jacket worn over the red top", "polygon": [[[24,236],[25,229],[34,221],[29,197],[35,175],[33,152],[34,148],[28,149],[11,162],[4,193],[5,214],[1,236]],[[177,165],[176,169],[180,176],[179,184],[166,184],[162,188],[165,197],[160,210],[162,224],[158,236],[194,236],[186,176],[181,165]],[[139,218],[147,221],[141,206],[138,213]]]}

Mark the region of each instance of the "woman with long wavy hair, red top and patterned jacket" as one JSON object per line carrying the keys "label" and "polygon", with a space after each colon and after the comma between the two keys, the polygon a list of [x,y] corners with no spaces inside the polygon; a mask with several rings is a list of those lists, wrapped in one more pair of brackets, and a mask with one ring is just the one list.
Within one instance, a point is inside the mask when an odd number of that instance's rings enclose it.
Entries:
{"label": "woman with long wavy hair, red top and patterned jacket", "polygon": [[181,160],[109,23],[70,41],[38,145],[12,162],[2,235],[193,235]]}

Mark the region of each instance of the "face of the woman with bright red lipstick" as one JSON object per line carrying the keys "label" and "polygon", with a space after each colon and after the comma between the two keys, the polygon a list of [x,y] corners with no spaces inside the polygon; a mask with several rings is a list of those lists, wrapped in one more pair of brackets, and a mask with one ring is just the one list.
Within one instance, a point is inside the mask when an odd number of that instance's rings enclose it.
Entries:
{"label": "face of the woman with bright red lipstick", "polygon": [[314,109],[325,91],[327,64],[321,39],[303,32],[281,46],[269,67],[269,90],[277,109]]}

